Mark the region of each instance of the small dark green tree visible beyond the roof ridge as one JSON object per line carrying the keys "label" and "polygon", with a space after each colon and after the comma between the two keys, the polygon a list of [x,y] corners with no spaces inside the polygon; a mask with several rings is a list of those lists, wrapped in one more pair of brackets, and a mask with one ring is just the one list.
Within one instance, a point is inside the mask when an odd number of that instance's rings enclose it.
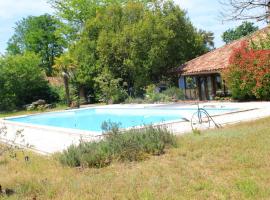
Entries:
{"label": "small dark green tree visible beyond the roof ridge", "polygon": [[255,26],[254,23],[251,22],[243,22],[240,26],[236,27],[235,29],[229,29],[222,34],[223,41],[228,44],[234,40],[240,39],[244,36],[247,36],[259,28]]}

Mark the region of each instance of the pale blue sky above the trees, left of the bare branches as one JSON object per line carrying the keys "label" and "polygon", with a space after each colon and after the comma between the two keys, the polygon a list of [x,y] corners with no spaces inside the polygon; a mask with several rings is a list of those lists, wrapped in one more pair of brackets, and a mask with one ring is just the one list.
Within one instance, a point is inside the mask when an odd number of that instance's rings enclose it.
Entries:
{"label": "pale blue sky above the trees, left of the bare branches", "polygon": [[[220,11],[222,6],[218,0],[174,0],[187,11],[193,25],[199,29],[214,32],[215,46],[220,47],[221,35],[229,28],[241,22],[222,23]],[[54,10],[47,0],[0,0],[0,54],[5,52],[8,39],[14,33],[15,23],[29,15],[38,16],[44,13],[53,14]],[[260,27],[265,24],[257,24]]]}

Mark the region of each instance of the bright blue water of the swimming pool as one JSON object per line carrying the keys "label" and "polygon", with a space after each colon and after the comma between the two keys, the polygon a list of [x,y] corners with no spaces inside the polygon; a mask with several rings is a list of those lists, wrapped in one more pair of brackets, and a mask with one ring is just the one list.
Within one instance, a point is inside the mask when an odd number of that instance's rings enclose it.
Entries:
{"label": "bright blue water of the swimming pool", "polygon": [[[222,114],[235,109],[209,108],[210,115]],[[105,121],[120,123],[121,128],[181,120],[186,112],[196,112],[196,108],[89,108],[72,111],[45,113],[8,119],[14,122],[71,128],[87,131],[102,131]]]}

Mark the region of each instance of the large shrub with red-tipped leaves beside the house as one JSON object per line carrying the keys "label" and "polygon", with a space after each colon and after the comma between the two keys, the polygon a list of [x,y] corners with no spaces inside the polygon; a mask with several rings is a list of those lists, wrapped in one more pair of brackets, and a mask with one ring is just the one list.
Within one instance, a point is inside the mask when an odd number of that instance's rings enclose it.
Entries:
{"label": "large shrub with red-tipped leaves beside the house", "polygon": [[243,42],[223,72],[232,97],[237,100],[270,99],[270,52],[250,48]]}

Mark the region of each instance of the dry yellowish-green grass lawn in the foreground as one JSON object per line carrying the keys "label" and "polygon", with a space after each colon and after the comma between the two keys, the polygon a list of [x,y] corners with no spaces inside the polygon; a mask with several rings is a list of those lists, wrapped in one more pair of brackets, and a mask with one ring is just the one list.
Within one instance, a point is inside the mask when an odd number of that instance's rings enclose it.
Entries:
{"label": "dry yellowish-green grass lawn in the foreground", "polygon": [[270,199],[269,124],[185,135],[163,156],[102,169],[63,167],[35,154],[28,163],[2,158],[0,184],[16,191],[9,199]]}

